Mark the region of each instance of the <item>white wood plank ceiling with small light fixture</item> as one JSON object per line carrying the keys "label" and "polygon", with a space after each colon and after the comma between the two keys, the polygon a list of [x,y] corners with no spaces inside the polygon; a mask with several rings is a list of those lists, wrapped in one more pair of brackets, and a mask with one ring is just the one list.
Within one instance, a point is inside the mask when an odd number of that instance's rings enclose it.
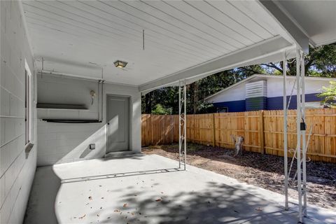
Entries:
{"label": "white wood plank ceiling with small light fixture", "polygon": [[[34,56],[45,58],[45,70],[100,77],[103,66],[105,80],[128,85],[144,85],[274,36],[288,38],[255,1],[23,1],[23,6]],[[117,59],[129,64],[118,69]],[[80,65],[93,69],[76,69]]]}

